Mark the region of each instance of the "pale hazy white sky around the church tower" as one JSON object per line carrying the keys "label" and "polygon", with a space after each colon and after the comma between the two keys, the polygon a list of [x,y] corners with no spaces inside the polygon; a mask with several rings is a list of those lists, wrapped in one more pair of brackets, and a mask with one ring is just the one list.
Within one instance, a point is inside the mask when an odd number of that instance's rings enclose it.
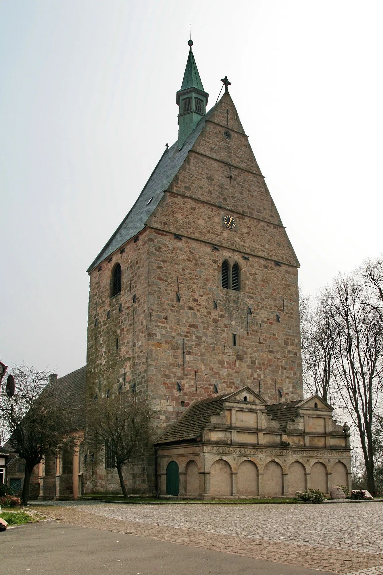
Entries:
{"label": "pale hazy white sky around the church tower", "polygon": [[189,22],[230,93],[304,292],[382,251],[382,2],[0,1],[0,358],[86,362],[86,269],[166,142]]}

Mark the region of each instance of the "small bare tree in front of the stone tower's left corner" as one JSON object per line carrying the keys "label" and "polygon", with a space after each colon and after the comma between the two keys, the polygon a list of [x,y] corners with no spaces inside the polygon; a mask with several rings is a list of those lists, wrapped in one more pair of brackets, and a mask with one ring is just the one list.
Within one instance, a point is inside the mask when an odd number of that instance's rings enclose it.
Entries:
{"label": "small bare tree in front of the stone tower's left corner", "polygon": [[[122,466],[144,455],[148,449],[151,411],[148,398],[122,391],[110,397],[96,399],[86,416],[86,443],[105,456],[117,467],[122,494],[128,497]],[[110,463],[110,462],[109,462]]]}

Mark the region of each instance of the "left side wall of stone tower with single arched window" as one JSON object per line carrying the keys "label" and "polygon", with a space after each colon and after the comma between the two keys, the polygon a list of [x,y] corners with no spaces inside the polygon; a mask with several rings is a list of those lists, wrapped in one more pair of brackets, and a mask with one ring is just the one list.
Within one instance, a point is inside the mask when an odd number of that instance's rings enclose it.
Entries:
{"label": "left side wall of stone tower with single arched window", "polygon": [[[129,240],[90,272],[88,402],[94,401],[95,394],[104,397],[108,389],[110,394],[118,393],[120,386],[131,393],[133,384],[136,384],[138,394],[147,393],[148,233],[143,231],[136,237],[136,241],[135,238]],[[117,262],[122,272],[121,293],[110,297],[112,272]],[[133,492],[146,490],[147,466],[147,461],[141,461],[133,470],[127,467],[128,489]],[[120,490],[117,470],[105,469],[104,452],[95,454],[94,462],[88,458],[84,486],[85,492]]]}

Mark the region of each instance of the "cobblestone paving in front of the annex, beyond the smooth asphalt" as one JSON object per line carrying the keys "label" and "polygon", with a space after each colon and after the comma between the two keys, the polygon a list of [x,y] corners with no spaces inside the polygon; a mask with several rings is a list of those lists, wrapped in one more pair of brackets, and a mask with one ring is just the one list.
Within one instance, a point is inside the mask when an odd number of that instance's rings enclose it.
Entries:
{"label": "cobblestone paving in front of the annex, beyond the smooth asphalt", "polygon": [[277,563],[383,575],[383,503],[33,505],[65,523],[131,533]]}

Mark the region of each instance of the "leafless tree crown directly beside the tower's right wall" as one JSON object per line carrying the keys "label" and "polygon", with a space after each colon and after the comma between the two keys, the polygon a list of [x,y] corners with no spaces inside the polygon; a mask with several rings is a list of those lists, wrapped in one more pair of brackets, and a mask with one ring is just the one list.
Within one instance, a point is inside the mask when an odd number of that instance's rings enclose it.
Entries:
{"label": "leafless tree crown directly beside the tower's right wall", "polygon": [[335,328],[325,312],[325,291],[315,307],[310,297],[300,300],[302,375],[310,394],[318,394],[324,401],[334,402],[335,386],[332,365],[335,359]]}

